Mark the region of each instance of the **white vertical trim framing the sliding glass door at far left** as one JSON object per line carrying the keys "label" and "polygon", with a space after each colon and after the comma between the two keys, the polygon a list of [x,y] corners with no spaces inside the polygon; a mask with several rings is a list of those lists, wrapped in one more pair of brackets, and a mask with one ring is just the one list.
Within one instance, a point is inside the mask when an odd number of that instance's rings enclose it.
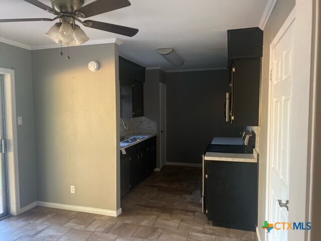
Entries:
{"label": "white vertical trim framing the sliding glass door at far left", "polygon": [[0,74],[5,75],[6,98],[6,129],[7,129],[7,162],[8,189],[10,213],[18,215],[20,211],[19,167],[18,167],[18,139],[15,70],[0,68]]}

